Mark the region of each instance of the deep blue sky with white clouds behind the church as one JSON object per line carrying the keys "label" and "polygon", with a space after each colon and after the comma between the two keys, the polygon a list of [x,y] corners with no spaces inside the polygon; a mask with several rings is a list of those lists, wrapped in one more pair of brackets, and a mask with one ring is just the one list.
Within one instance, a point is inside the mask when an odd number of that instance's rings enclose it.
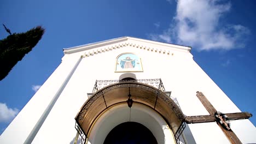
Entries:
{"label": "deep blue sky with white clouds behind the church", "polygon": [[[192,46],[200,67],[241,111],[256,115],[255,6],[249,0],[2,0],[0,20],[11,32],[40,25],[45,34],[0,81],[0,134],[61,63],[63,48],[123,36]],[[7,36],[0,28],[0,39]]]}

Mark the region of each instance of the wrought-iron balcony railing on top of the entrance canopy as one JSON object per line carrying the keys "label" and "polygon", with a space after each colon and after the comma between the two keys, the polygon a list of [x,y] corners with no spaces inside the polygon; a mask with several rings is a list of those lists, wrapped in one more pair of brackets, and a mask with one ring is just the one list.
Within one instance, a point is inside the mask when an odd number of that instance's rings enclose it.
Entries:
{"label": "wrought-iron balcony railing on top of the entrance canopy", "polygon": [[161,91],[165,91],[165,87],[162,84],[162,80],[161,79],[139,79],[139,80],[96,80],[95,85],[94,85],[94,89],[92,90],[92,93],[97,92],[98,90],[100,90],[103,87],[112,85],[114,83],[118,83],[118,82],[140,82],[140,83],[144,83],[147,84],[149,86],[153,86],[155,88],[158,88]]}

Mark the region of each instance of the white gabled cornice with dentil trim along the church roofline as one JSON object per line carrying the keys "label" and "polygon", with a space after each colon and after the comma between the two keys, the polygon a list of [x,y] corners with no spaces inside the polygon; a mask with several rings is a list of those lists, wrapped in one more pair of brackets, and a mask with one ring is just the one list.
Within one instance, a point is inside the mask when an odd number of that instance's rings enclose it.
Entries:
{"label": "white gabled cornice with dentil trim along the church roofline", "polygon": [[112,51],[127,46],[166,54],[169,54],[170,51],[190,52],[191,50],[190,46],[174,45],[133,37],[120,37],[110,40],[99,41],[96,43],[70,47],[68,49],[63,49],[63,52],[65,55],[77,52],[84,52],[84,56],[93,56],[97,53]]}

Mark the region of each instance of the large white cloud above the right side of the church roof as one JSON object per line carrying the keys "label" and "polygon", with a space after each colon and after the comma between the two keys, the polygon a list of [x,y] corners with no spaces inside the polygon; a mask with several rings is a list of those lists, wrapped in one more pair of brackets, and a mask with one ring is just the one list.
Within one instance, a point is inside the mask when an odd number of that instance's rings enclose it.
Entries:
{"label": "large white cloud above the right side of the church roof", "polygon": [[161,34],[149,34],[149,38],[190,45],[199,51],[245,47],[249,29],[220,22],[230,8],[231,3],[220,0],[178,0],[174,24]]}

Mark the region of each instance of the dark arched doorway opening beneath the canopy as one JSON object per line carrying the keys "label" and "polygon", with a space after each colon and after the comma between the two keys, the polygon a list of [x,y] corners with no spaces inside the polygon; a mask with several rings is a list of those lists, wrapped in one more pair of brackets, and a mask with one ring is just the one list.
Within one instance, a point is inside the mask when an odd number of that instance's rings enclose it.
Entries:
{"label": "dark arched doorway opening beneath the canopy", "polygon": [[125,122],[112,129],[104,144],[156,144],[158,143],[151,131],[136,122]]}

